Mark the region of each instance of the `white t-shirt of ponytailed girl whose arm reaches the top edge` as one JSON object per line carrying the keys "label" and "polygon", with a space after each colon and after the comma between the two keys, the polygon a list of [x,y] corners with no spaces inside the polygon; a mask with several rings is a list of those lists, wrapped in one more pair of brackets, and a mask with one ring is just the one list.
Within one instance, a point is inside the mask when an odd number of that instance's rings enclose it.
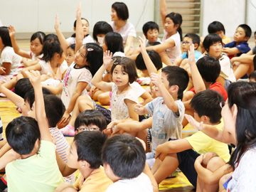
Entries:
{"label": "white t-shirt of ponytailed girl whose arm reaches the top edge", "polygon": [[166,49],[166,54],[169,56],[171,62],[174,63],[174,60],[178,58],[179,55],[181,55],[181,36],[177,32],[176,34],[166,39],[167,35],[168,33],[166,33],[166,31],[164,30],[164,37],[162,39],[162,43],[169,41],[170,39],[174,40],[175,46]]}

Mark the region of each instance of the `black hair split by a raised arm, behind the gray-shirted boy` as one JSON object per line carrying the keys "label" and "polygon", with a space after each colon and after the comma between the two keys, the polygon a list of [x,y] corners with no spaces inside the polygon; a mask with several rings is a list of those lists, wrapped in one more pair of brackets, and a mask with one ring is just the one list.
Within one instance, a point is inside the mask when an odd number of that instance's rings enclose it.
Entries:
{"label": "black hair split by a raised arm, behind the gray-shirted boy", "polygon": [[[148,53],[149,58],[154,63],[156,70],[159,70],[163,67],[159,53],[157,53],[155,50],[146,50],[146,53]],[[137,56],[135,64],[138,70],[146,70],[146,65],[142,57],[142,53],[139,53]]]}

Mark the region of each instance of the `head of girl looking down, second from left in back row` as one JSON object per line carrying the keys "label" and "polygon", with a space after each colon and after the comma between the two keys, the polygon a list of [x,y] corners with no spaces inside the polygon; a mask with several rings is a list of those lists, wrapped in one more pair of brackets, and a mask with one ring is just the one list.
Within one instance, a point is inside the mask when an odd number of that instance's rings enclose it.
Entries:
{"label": "head of girl looking down, second from left in back row", "polygon": [[36,55],[40,55],[43,52],[43,38],[46,36],[45,33],[42,31],[38,31],[36,33],[33,33],[31,36],[31,51],[32,53],[35,53]]}

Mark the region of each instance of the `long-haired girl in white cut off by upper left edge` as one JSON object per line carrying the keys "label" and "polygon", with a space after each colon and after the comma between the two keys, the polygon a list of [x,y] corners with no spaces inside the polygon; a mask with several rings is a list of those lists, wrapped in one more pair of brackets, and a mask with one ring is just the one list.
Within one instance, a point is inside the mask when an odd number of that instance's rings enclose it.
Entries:
{"label": "long-haired girl in white cut off by upper left edge", "polygon": [[0,82],[11,80],[21,64],[21,56],[14,53],[6,26],[0,27]]}

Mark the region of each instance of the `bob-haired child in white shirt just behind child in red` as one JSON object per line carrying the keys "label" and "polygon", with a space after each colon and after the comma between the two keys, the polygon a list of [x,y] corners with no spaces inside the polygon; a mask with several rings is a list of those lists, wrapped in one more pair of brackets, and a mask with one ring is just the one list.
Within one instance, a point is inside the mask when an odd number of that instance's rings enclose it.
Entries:
{"label": "bob-haired child in white shirt just behind child in red", "polygon": [[[205,55],[213,56],[220,61],[220,76],[216,81],[220,82],[225,90],[228,89],[228,85],[231,82],[235,82],[235,75],[233,73],[232,64],[228,55],[221,53],[223,48],[223,42],[220,36],[217,34],[209,34],[203,41],[203,47],[206,49],[207,53],[204,53],[201,57]],[[200,57],[200,58],[201,58]],[[198,58],[199,59],[199,58]]]}

